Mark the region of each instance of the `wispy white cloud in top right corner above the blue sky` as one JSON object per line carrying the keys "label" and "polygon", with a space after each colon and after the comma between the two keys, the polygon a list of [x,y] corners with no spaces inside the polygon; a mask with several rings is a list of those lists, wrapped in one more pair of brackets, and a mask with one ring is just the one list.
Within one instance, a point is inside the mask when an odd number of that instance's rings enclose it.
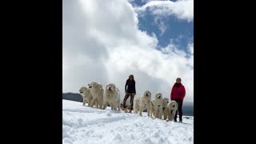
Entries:
{"label": "wispy white cloud in top right corner above the blue sky", "polygon": [[152,14],[161,17],[174,15],[179,19],[191,22],[194,19],[194,0],[150,1],[144,6],[136,7],[135,10],[139,14],[146,13],[146,10],[149,10]]}

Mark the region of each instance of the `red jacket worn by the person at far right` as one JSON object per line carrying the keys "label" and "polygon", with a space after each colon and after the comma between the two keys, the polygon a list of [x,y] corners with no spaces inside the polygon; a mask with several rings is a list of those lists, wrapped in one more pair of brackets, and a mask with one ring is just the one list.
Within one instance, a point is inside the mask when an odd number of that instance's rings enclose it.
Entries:
{"label": "red jacket worn by the person at far right", "polygon": [[180,86],[175,86],[174,84],[170,92],[170,99],[171,100],[177,99],[177,100],[183,101],[183,99],[185,98],[185,95],[186,95],[186,90],[185,90],[185,87],[182,85],[182,83],[180,83]]}

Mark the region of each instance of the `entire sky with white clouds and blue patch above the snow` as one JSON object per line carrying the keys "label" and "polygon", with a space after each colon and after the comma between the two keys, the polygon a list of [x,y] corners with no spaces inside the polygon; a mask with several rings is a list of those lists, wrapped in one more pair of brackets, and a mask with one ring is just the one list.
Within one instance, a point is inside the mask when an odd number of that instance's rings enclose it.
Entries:
{"label": "entire sky with white clouds and blue patch above the snow", "polygon": [[194,102],[194,0],[63,0],[62,91],[114,83],[124,98],[130,74],[153,98],[182,78]]}

